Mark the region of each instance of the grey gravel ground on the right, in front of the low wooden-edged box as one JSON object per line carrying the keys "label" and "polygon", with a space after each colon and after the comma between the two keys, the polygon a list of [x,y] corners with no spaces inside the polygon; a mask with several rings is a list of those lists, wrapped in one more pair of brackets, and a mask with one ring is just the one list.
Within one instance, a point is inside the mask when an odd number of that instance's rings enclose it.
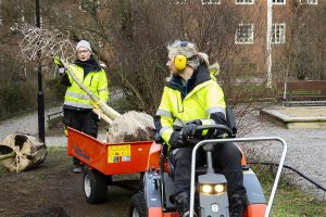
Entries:
{"label": "grey gravel ground on the right, in front of the low wooden-edged box", "polygon": [[[255,116],[256,117],[256,116]],[[255,129],[244,137],[280,137],[288,145],[285,165],[288,165],[326,188],[326,129],[285,129],[271,122],[259,119]],[[279,163],[283,145],[277,142],[243,144],[250,162]],[[284,169],[290,181],[326,201],[326,192],[311,184],[296,173]]]}

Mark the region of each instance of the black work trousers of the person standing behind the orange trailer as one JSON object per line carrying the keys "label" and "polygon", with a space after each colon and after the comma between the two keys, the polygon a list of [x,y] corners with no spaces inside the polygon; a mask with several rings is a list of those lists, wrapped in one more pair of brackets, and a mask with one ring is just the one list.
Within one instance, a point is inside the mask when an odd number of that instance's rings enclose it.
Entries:
{"label": "black work trousers of the person standing behind the orange trailer", "polygon": [[[63,110],[62,122],[65,126],[85,132],[93,138],[98,137],[98,115],[92,110]],[[79,161],[73,157],[73,163],[78,165]]]}

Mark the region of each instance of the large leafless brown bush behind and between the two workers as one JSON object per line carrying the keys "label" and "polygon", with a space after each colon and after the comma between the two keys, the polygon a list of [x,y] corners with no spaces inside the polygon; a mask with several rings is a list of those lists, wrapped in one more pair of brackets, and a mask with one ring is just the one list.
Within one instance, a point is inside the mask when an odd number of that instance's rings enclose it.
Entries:
{"label": "large leafless brown bush behind and between the two workers", "polygon": [[[79,1],[68,12],[51,5],[43,9],[48,25],[70,31],[72,40],[88,39],[135,108],[155,112],[168,75],[166,44],[175,39],[191,40],[229,71],[239,48],[235,29],[239,17],[229,4],[202,5],[200,1],[177,4],[156,0]],[[60,18],[59,18],[60,17]],[[231,69],[230,69],[231,72]],[[115,85],[115,84],[112,84]]]}

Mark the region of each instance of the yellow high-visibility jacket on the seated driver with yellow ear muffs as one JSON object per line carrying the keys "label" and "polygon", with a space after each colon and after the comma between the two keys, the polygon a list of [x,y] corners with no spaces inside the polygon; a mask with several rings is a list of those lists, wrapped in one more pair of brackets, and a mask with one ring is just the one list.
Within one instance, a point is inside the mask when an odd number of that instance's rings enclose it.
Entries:
{"label": "yellow high-visibility jacket on the seated driver with yellow ear muffs", "polygon": [[201,119],[203,125],[226,125],[225,107],[222,88],[211,78],[206,66],[201,65],[186,85],[178,76],[165,85],[154,119],[156,132],[170,145],[173,131],[188,122]]}

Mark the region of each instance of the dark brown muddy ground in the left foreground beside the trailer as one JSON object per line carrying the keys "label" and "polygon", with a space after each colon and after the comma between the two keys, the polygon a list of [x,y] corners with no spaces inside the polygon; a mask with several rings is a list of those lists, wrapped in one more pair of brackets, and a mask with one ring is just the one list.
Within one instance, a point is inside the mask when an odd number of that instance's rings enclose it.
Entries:
{"label": "dark brown muddy ground in the left foreground beside the trailer", "polygon": [[51,148],[38,168],[14,174],[0,166],[0,217],[128,216],[130,191],[108,187],[106,202],[91,205],[83,174],[72,173],[65,148]]}

